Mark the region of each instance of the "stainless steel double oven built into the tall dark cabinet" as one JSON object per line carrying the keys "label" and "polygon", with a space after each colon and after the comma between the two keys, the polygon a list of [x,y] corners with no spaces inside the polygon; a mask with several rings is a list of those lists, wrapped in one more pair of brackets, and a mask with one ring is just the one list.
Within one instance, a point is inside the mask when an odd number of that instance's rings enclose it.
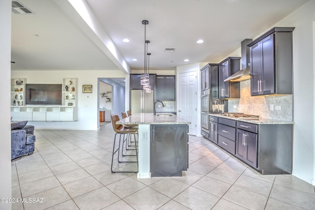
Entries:
{"label": "stainless steel double oven built into the tall dark cabinet", "polygon": [[201,91],[201,135],[209,138],[210,90]]}

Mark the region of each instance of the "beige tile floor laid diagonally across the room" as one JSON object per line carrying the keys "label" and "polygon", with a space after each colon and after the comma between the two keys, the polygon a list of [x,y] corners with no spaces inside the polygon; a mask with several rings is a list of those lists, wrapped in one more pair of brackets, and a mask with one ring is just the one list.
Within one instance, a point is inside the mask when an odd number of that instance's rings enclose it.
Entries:
{"label": "beige tile floor laid diagonally across the room", "polygon": [[13,203],[13,210],[315,209],[311,184],[291,175],[262,176],[201,137],[189,136],[183,177],[139,180],[111,173],[111,124],[35,135],[34,153],[12,161],[12,198],[41,203]]}

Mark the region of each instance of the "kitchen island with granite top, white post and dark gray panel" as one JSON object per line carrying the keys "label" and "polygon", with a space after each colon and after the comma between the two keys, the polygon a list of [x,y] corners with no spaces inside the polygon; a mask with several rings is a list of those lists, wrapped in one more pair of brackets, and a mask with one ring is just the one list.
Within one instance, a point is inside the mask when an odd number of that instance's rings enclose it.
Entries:
{"label": "kitchen island with granite top, white post and dark gray panel", "polygon": [[138,179],[187,171],[190,122],[171,113],[136,113],[116,123],[138,125]]}

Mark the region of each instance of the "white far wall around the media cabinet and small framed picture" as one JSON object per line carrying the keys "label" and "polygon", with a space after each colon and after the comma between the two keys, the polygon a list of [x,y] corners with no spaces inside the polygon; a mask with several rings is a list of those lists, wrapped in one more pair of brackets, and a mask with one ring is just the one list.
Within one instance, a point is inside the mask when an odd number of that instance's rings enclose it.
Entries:
{"label": "white far wall around the media cabinet and small framed picture", "polygon": [[[98,109],[98,78],[121,78],[125,74],[120,70],[14,70],[12,78],[27,78],[28,83],[62,84],[63,78],[77,78],[77,106],[78,120],[63,122],[35,122],[36,129],[69,129],[69,130],[97,130],[99,123]],[[92,85],[92,93],[83,93],[83,85]],[[125,101],[123,102],[125,104]],[[113,104],[114,106],[114,104]]]}

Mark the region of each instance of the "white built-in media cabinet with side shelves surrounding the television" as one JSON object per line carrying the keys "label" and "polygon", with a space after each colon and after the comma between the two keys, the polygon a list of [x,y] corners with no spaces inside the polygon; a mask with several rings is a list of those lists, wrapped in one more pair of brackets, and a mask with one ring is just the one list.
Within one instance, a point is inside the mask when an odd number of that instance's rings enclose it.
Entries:
{"label": "white built-in media cabinet with side shelves surrounding the television", "polygon": [[[17,82],[18,81],[18,82]],[[23,81],[23,82],[21,82]],[[12,121],[76,121],[78,120],[77,79],[63,79],[63,105],[25,104],[26,79],[11,79],[11,116]],[[67,89],[65,88],[67,86]],[[22,89],[21,89],[22,88]],[[19,90],[19,91],[17,91]],[[22,90],[22,91],[20,91]],[[14,102],[15,101],[15,102]],[[19,101],[19,103],[17,103]]]}

